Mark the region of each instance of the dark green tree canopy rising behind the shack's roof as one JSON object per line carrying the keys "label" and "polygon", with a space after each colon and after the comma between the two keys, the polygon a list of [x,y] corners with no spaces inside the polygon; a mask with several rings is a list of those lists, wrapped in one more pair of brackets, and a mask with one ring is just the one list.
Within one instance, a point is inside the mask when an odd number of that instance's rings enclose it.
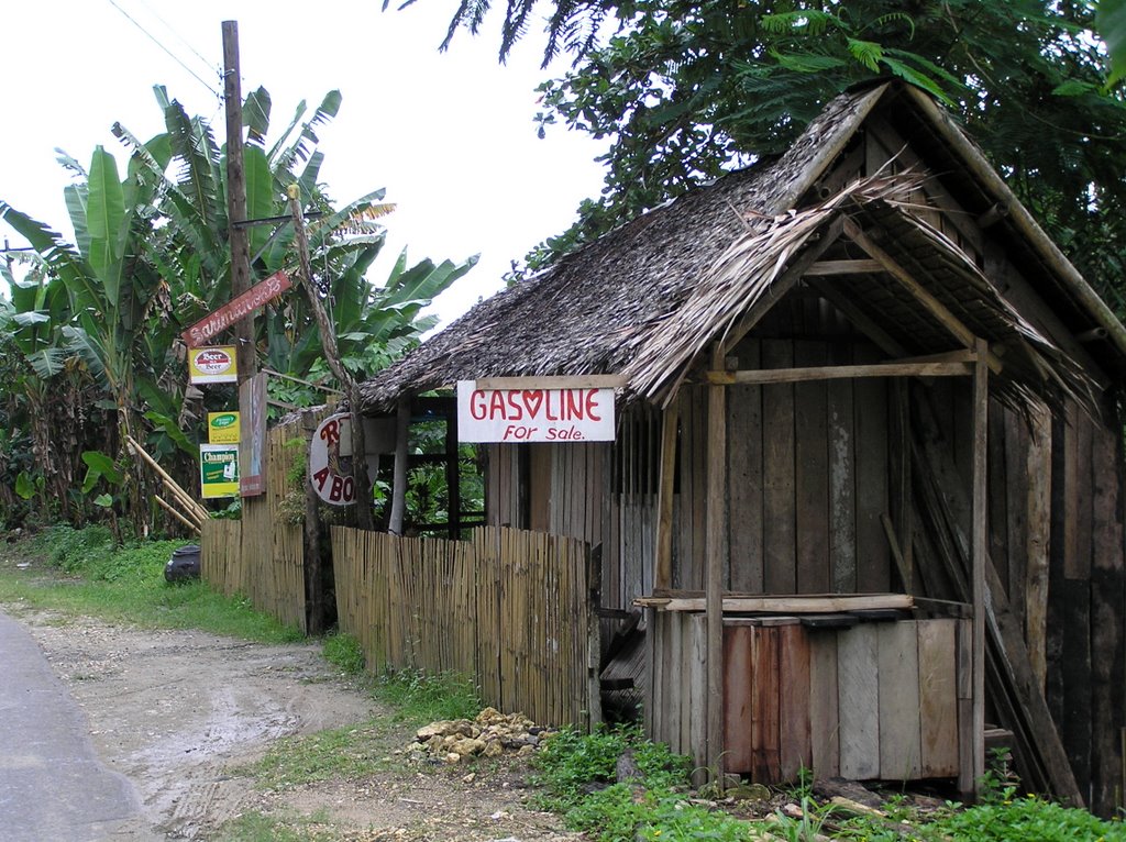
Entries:
{"label": "dark green tree canopy rising behind the shack's roof", "polygon": [[[508,5],[502,59],[534,6]],[[463,0],[447,41],[458,27],[480,30],[488,8]],[[573,64],[542,86],[537,119],[611,146],[602,195],[529,263],[778,154],[840,91],[895,77],[960,119],[1107,292],[1121,270],[1126,102],[1108,86],[1093,26],[1082,0],[558,0],[546,18],[545,62],[562,52]]]}

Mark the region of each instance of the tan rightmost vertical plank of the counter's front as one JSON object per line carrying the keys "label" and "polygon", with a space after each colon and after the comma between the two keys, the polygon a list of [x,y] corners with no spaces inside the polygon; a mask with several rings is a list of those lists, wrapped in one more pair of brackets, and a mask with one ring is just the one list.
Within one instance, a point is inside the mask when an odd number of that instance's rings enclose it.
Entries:
{"label": "tan rightmost vertical plank of the counter's front", "polygon": [[921,778],[958,773],[955,624],[949,619],[918,622]]}

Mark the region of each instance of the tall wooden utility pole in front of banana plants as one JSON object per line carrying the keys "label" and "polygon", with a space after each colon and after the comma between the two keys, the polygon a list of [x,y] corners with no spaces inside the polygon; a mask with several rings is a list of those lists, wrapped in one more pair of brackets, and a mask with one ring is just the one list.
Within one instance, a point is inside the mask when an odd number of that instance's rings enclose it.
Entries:
{"label": "tall wooden utility pole in front of banana plants", "polygon": [[[231,297],[250,289],[250,244],[247,230],[247,170],[242,163],[242,81],[239,66],[239,21],[223,21],[223,99],[226,105],[226,225],[231,243]],[[239,384],[258,373],[254,317],[234,324]],[[244,409],[244,407],[240,407]]]}

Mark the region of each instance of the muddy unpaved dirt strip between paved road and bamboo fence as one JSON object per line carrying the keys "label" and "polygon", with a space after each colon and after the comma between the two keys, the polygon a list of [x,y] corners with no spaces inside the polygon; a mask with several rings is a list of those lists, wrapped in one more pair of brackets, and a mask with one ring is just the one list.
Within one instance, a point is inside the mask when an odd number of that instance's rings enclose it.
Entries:
{"label": "muddy unpaved dirt strip between paved road and bamboo fence", "polygon": [[[284,817],[319,840],[563,840],[524,804],[525,770],[412,768],[279,791],[245,767],[292,734],[385,717],[315,644],[266,646],[200,632],[140,630],[14,610],[83,710],[95,747],[133,782],[146,827],[135,839],[223,839],[247,813]],[[313,818],[310,818],[312,816]],[[115,835],[114,839],[126,839]]]}

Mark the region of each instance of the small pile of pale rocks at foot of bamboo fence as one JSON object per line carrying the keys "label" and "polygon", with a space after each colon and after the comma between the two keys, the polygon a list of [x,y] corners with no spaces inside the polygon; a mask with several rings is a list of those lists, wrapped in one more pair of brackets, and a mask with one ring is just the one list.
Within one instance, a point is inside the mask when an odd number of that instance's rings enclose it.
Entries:
{"label": "small pile of pale rocks at foot of bamboo fence", "polygon": [[549,733],[524,714],[485,708],[473,719],[444,719],[418,729],[406,753],[419,760],[461,763],[467,758],[530,754]]}

